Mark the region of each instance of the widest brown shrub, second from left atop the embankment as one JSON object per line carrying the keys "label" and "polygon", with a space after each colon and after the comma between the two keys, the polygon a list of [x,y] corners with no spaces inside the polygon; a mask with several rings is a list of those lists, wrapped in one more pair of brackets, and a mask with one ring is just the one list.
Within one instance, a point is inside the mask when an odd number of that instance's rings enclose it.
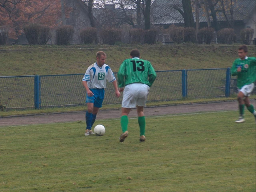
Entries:
{"label": "widest brown shrub, second from left atop the embankment", "polygon": [[30,45],[46,44],[52,36],[50,27],[37,23],[30,23],[25,26],[24,33]]}

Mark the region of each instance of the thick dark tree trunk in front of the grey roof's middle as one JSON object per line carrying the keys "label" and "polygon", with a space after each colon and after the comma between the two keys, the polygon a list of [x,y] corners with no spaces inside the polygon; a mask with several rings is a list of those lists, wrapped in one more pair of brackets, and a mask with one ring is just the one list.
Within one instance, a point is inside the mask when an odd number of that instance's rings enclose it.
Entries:
{"label": "thick dark tree trunk in front of the grey roof's middle", "polygon": [[192,13],[191,1],[182,0],[182,6],[184,11],[184,24],[185,27],[194,27],[194,17]]}

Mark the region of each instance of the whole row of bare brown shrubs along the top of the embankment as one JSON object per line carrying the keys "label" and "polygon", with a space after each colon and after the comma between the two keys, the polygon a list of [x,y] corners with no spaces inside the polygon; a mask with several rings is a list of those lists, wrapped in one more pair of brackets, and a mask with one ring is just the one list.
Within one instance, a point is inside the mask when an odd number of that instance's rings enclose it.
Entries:
{"label": "whole row of bare brown shrubs along the top of the embankment", "polygon": [[[46,44],[52,37],[50,27],[31,23],[24,27],[24,33],[28,44]],[[81,44],[96,44],[100,40],[103,44],[114,45],[116,42],[121,42],[123,31],[117,28],[103,28],[97,31],[96,28],[85,28],[80,31]],[[210,44],[215,36],[213,28],[201,28],[196,35],[194,28],[184,28],[171,25],[168,29],[152,28],[149,30],[131,29],[129,30],[129,42],[131,44],[147,43],[156,44],[158,34],[168,34],[170,40],[180,44],[184,42],[192,42],[199,44]],[[59,26],[56,29],[55,42],[58,45],[70,44],[73,38],[74,29],[73,26]],[[246,28],[241,30],[241,40],[243,44],[250,44],[253,37],[254,29]],[[218,43],[232,44],[236,42],[236,35],[234,29],[223,28],[216,33]],[[8,29],[6,27],[0,27],[0,45],[5,45],[8,39]]]}

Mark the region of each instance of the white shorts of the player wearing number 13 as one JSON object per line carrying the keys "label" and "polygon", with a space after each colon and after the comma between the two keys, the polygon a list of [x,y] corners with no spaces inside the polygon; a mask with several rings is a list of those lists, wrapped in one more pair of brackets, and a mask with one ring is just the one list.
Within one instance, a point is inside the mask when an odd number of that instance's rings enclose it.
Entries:
{"label": "white shorts of the player wearing number 13", "polygon": [[132,83],[126,85],[123,90],[122,108],[135,108],[146,106],[149,86],[142,83]]}

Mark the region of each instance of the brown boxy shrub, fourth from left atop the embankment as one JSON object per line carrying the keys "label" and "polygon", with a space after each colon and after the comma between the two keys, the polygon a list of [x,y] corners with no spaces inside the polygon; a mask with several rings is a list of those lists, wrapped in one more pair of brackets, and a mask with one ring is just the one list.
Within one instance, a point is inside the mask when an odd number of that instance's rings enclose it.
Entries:
{"label": "brown boxy shrub, fourth from left atop the embankment", "polygon": [[94,27],[81,30],[79,35],[82,44],[97,43],[97,29]]}

